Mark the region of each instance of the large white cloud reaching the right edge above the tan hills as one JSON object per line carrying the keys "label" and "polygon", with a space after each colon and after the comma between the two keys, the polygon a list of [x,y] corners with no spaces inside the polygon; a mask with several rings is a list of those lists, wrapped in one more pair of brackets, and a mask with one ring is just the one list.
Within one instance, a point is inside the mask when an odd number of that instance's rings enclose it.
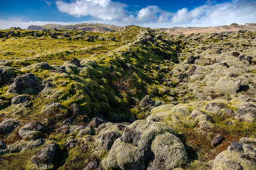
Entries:
{"label": "large white cloud reaching the right edge above the tan hills", "polygon": [[235,0],[221,4],[207,1],[191,11],[182,8],[172,18],[172,24],[183,26],[225,25],[232,22],[256,22],[256,1]]}

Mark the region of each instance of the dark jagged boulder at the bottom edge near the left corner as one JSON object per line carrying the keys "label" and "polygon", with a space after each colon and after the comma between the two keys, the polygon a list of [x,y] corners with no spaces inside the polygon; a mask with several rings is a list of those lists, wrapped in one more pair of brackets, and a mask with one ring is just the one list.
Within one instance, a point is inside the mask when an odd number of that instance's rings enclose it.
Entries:
{"label": "dark jagged boulder at the bottom edge near the left corner", "polygon": [[53,169],[54,155],[56,153],[57,145],[51,143],[46,145],[42,150],[36,153],[33,157],[32,162],[38,166],[39,169]]}

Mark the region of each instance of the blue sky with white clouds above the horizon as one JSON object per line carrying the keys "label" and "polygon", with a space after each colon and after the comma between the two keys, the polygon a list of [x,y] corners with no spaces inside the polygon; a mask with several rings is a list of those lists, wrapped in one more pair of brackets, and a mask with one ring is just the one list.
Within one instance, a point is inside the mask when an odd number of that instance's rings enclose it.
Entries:
{"label": "blue sky with white clouds above the horizon", "polygon": [[0,0],[0,29],[105,23],[207,27],[256,23],[256,0]]}

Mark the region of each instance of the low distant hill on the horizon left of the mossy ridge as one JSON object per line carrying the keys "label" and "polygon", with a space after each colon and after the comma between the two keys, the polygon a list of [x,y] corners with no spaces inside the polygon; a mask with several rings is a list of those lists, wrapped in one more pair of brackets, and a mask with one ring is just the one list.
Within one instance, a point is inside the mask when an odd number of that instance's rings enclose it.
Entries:
{"label": "low distant hill on the horizon left of the mossy ridge", "polygon": [[46,25],[30,25],[28,29],[42,30],[42,29],[76,29],[81,31],[90,32],[108,32],[120,28],[116,25],[109,24],[76,24],[76,25],[59,25],[59,24],[46,24]]}

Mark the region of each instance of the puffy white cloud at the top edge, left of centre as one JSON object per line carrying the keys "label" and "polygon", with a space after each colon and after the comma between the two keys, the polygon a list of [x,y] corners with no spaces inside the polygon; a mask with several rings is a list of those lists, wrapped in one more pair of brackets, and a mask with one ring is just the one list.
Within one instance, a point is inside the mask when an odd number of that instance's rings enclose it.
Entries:
{"label": "puffy white cloud at the top edge, left of centre", "polygon": [[123,3],[116,3],[110,0],[76,0],[71,3],[56,1],[58,10],[74,15],[75,17],[90,15],[93,18],[102,20],[118,20],[125,17]]}

